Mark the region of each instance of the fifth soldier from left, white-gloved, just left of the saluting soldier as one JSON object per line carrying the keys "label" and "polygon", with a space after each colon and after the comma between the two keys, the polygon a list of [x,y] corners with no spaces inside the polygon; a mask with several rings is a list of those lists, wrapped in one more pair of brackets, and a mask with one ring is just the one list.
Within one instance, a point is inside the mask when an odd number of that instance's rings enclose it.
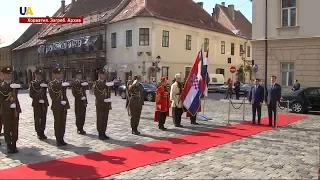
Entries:
{"label": "fifth soldier from left, white-gloved, just left of the saluting soldier", "polygon": [[98,80],[94,83],[94,95],[96,96],[97,130],[100,140],[107,140],[106,135],[109,111],[111,106],[111,87],[113,82],[106,82],[105,70],[98,70]]}

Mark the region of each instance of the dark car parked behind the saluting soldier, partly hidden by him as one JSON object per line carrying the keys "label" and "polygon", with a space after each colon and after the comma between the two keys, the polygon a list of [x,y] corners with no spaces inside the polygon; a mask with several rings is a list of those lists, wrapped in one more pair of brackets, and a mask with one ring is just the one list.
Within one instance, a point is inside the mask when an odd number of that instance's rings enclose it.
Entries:
{"label": "dark car parked behind the saluting soldier, partly hidden by him", "polygon": [[[155,94],[156,94],[156,85],[152,83],[141,83],[144,89],[144,99],[147,101],[154,102],[155,100]],[[126,85],[122,85],[119,87],[119,94],[122,99],[126,99]]]}

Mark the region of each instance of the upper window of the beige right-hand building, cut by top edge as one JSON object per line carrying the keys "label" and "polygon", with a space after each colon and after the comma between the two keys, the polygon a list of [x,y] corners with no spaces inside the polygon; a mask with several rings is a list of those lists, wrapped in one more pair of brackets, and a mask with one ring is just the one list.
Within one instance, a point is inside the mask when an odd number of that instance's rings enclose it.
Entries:
{"label": "upper window of the beige right-hand building, cut by top edge", "polygon": [[282,0],[281,4],[282,27],[296,26],[297,7],[296,0]]}

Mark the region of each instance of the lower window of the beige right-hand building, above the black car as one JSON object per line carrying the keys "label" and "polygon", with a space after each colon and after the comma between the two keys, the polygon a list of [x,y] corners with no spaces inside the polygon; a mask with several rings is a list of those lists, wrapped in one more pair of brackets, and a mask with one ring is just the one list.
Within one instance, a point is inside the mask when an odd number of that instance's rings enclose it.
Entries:
{"label": "lower window of the beige right-hand building, above the black car", "polygon": [[294,79],[294,64],[281,63],[281,85],[292,86]]}

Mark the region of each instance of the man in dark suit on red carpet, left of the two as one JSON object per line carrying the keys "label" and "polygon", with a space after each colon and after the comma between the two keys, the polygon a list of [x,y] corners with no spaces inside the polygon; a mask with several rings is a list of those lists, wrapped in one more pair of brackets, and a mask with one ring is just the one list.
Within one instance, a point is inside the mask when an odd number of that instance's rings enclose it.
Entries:
{"label": "man in dark suit on red carpet, left of the two", "polygon": [[251,87],[249,102],[252,104],[252,124],[256,124],[256,112],[258,112],[258,124],[261,122],[261,105],[264,98],[264,89],[260,86],[260,79],[255,79],[255,85]]}

